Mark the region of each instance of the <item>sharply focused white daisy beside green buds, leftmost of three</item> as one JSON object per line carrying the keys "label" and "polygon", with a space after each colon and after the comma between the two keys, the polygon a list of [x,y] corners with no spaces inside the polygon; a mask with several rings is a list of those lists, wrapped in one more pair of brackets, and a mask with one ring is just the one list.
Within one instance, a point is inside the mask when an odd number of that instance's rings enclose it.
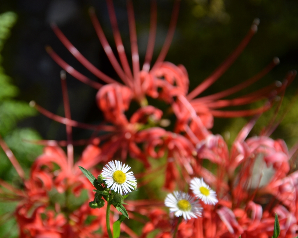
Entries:
{"label": "sharply focused white daisy beside green buds, leftmost of three", "polygon": [[103,167],[101,175],[105,177],[103,180],[106,182],[108,188],[111,187],[111,190],[122,195],[136,189],[136,177],[134,173],[126,173],[130,168],[128,165],[122,165],[122,162],[115,160],[115,162],[108,162]]}

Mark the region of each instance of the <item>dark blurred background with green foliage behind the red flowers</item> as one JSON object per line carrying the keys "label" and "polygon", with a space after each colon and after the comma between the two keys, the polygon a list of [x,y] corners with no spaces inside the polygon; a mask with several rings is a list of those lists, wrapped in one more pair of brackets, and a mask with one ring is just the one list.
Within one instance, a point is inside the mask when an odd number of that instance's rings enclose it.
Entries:
{"label": "dark blurred background with green foliage behind the red flowers", "polygon": [[[150,1],[133,3],[142,64],[148,41]],[[114,5],[122,40],[130,59],[126,4],[125,1],[118,0],[114,1]],[[0,134],[27,172],[32,161],[41,153],[42,147],[26,143],[24,139],[66,139],[64,125],[53,122],[28,106],[29,101],[35,100],[49,111],[64,115],[59,76],[61,68],[46,53],[45,46],[51,46],[75,69],[97,80],[66,50],[50,24],[55,22],[91,63],[118,79],[88,16],[91,6],[95,7],[106,37],[115,50],[107,7],[103,0],[0,2],[0,14],[10,11],[0,18]],[[157,6],[158,26],[153,62],[167,34],[173,1],[158,0]],[[182,0],[176,32],[166,60],[186,67],[192,90],[240,43],[254,18],[260,18],[257,34],[228,71],[202,95],[219,92],[250,78],[271,62],[273,57],[279,57],[280,65],[258,83],[233,97],[252,92],[277,80],[282,81],[289,70],[298,68],[296,0]],[[297,80],[286,91],[280,115],[283,111],[288,113],[273,134],[274,138],[284,139],[289,147],[298,140],[298,102],[293,100],[298,89]],[[95,103],[97,91],[70,75],[67,75],[67,84],[72,118],[85,123],[102,121],[103,116]],[[156,101],[154,103],[158,104]],[[262,103],[264,101],[244,108],[254,108]],[[265,113],[252,133],[258,133],[272,115],[272,110]],[[249,118],[215,118],[212,132],[222,134],[230,144],[247,120]],[[90,134],[91,131],[74,129],[73,136],[76,140],[88,138]],[[80,148],[77,151],[79,153]],[[0,156],[0,178],[17,183],[15,170],[3,151]]]}

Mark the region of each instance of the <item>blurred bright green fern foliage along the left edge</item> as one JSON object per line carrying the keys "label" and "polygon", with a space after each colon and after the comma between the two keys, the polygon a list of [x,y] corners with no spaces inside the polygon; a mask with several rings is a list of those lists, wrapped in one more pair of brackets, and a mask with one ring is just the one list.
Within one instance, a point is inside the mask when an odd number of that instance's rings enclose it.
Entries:
{"label": "blurred bright green fern foliage along the left edge", "polygon": [[[5,41],[10,36],[10,29],[17,19],[14,12],[5,12],[0,15],[0,52]],[[25,171],[28,171],[32,161],[41,154],[41,146],[32,145],[26,140],[41,139],[39,134],[29,128],[17,128],[18,121],[36,115],[35,109],[28,103],[18,101],[18,88],[12,84],[12,79],[4,72],[1,66],[0,55],[0,134],[15,154]],[[17,179],[17,174],[3,150],[0,149],[0,177],[11,181]]]}

